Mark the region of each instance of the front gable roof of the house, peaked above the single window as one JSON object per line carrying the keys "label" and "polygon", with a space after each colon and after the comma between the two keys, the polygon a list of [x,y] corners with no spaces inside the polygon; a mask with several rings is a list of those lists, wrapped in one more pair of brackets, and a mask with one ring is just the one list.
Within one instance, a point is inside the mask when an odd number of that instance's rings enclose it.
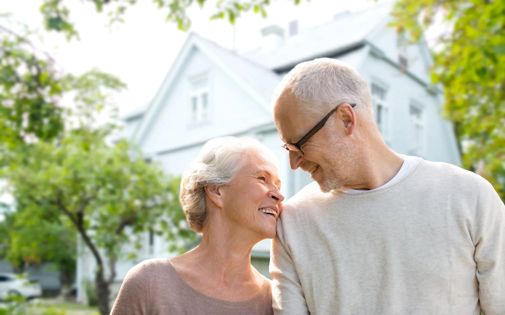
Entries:
{"label": "front gable roof of the house, peaked above the single window", "polygon": [[[255,101],[268,116],[272,115],[269,106],[270,97],[281,77],[275,72],[247,60],[196,33],[190,33],[155,97],[142,115],[142,121],[133,133],[133,139],[137,143],[142,143],[150,126],[153,125],[152,122],[155,117],[158,116],[162,106],[165,105],[162,102],[163,98],[167,93],[170,93],[170,89],[179,78],[178,74],[184,68],[194,50],[205,54],[216,67],[237,83],[244,93]],[[140,115],[140,113],[137,112],[137,115]],[[127,117],[131,118],[132,115],[127,115]]]}

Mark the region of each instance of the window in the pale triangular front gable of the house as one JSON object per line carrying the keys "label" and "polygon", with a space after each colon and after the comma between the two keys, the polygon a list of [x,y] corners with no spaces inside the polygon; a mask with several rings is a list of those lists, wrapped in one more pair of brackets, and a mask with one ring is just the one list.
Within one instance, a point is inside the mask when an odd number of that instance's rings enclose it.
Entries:
{"label": "window in the pale triangular front gable of the house", "polygon": [[190,123],[209,120],[209,80],[207,76],[191,80],[189,107]]}

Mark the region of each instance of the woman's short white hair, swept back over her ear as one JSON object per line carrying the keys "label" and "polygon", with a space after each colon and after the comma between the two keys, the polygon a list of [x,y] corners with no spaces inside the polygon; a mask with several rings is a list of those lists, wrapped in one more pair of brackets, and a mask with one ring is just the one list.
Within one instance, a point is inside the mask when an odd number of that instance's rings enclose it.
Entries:
{"label": "woman's short white hair, swept back over her ear", "polygon": [[274,153],[252,138],[221,137],[208,141],[186,167],[181,178],[180,200],[193,231],[201,233],[205,229],[208,217],[205,188],[232,184],[251,149],[260,149],[278,164]]}

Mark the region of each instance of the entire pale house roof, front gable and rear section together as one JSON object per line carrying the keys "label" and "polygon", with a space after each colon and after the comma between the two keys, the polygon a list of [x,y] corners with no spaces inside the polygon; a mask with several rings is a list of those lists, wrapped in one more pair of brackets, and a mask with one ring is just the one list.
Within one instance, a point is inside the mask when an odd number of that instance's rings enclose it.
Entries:
{"label": "entire pale house roof, front gable and rear section together", "polygon": [[[344,13],[335,20],[286,38],[272,51],[260,48],[238,55],[217,43],[190,33],[153,100],[144,109],[126,115],[125,120],[141,119],[133,139],[141,143],[165,105],[162,100],[179,79],[179,73],[194,50],[205,54],[217,68],[228,75],[267,115],[270,99],[282,74],[296,64],[320,57],[340,59],[359,68],[369,53],[369,37],[380,25],[386,25],[393,3],[375,5],[355,13]],[[280,74],[278,74],[280,73]]]}

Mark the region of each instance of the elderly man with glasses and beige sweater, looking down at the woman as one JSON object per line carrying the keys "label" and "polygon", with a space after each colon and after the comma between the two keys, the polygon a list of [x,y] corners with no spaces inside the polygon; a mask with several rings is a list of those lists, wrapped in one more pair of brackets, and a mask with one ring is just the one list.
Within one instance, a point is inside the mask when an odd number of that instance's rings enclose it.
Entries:
{"label": "elderly man with glasses and beige sweater, looking down at the woman", "polygon": [[389,149],[336,60],[296,66],[273,105],[291,168],[317,182],[277,220],[275,314],[505,314],[505,206],[484,178]]}

